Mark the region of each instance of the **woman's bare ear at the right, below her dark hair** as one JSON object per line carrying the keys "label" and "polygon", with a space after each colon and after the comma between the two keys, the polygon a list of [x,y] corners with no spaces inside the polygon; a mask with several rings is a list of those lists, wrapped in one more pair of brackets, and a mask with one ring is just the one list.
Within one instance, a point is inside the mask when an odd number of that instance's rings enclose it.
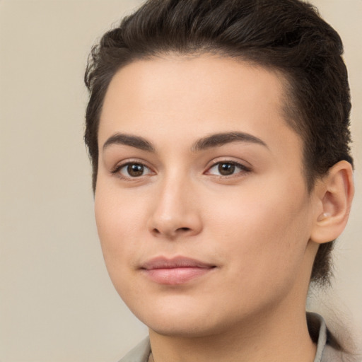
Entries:
{"label": "woman's bare ear at the right, below her dark hair", "polygon": [[322,244],[332,241],[344,230],[354,197],[354,180],[351,163],[336,163],[313,190],[317,209],[310,239]]}

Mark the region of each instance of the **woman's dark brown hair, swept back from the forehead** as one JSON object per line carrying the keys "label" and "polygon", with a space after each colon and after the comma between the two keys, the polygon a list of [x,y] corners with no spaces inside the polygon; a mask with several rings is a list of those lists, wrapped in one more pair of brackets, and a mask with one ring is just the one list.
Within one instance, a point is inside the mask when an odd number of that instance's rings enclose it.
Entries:
{"label": "woman's dark brown hair, swept back from the forehead", "polygon": [[[351,102],[343,45],[310,4],[299,0],[148,0],[103,35],[88,59],[85,141],[98,172],[98,123],[117,70],[136,59],[218,54],[279,71],[286,79],[288,124],[303,139],[305,180],[312,189],[350,155]],[[328,284],[333,242],[320,245],[311,281]]]}

